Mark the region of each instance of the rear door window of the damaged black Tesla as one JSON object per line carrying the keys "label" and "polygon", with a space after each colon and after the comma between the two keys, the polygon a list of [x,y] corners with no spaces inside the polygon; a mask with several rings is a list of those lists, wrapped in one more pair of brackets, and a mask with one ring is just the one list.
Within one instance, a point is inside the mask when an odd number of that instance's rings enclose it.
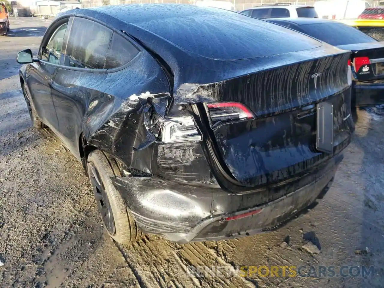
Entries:
{"label": "rear door window of the damaged black Tesla", "polygon": [[84,18],[74,18],[68,38],[64,65],[104,69],[113,31]]}

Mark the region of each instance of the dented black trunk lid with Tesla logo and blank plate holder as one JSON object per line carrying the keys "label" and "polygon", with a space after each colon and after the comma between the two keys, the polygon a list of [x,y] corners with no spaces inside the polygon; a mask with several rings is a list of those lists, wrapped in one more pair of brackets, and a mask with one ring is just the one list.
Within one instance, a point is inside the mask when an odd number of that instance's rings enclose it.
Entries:
{"label": "dented black trunk lid with Tesla logo and blank plate holder", "polygon": [[[349,144],[354,126],[348,59],[349,53],[310,59],[240,76],[216,87],[215,93],[229,104],[206,103],[205,108],[218,154],[240,185],[295,179]],[[235,114],[235,121],[223,118],[228,112]],[[330,151],[320,151],[326,149],[319,138]]]}

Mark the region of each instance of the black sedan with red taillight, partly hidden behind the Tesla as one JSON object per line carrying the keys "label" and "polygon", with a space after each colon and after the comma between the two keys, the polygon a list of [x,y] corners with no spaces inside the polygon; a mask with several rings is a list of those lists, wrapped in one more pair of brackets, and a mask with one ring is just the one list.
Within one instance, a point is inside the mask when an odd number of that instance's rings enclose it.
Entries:
{"label": "black sedan with red taillight, partly hidden behind the Tesla", "polygon": [[344,50],[351,50],[352,103],[354,106],[384,104],[384,42],[335,20],[314,18],[266,19]]}

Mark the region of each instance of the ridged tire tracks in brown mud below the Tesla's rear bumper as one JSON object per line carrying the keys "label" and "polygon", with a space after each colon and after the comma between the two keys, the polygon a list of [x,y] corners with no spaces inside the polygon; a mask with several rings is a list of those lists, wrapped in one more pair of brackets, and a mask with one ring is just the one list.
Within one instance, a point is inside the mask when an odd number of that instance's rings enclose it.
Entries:
{"label": "ridged tire tracks in brown mud below the Tesla's rear bumper", "polygon": [[252,281],[234,273],[232,277],[217,277],[210,273],[200,277],[189,268],[220,265],[234,270],[232,264],[218,256],[204,243],[177,245],[154,235],[145,236],[131,245],[115,243],[133,271],[141,288],[189,288],[189,287],[252,287]]}

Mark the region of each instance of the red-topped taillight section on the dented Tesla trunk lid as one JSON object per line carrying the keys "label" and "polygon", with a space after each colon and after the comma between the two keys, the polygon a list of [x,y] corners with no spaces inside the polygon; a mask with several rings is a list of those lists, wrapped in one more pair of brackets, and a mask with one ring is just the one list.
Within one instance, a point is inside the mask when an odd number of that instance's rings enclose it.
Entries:
{"label": "red-topped taillight section on the dented Tesla trunk lid", "polygon": [[242,103],[206,103],[212,127],[232,121],[254,119],[255,115]]}

